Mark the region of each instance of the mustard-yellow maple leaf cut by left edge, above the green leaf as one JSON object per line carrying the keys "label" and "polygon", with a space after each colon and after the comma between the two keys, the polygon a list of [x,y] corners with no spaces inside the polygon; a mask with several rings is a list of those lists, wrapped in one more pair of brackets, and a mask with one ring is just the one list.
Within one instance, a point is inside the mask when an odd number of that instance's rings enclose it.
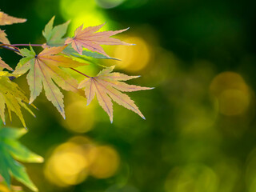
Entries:
{"label": "mustard-yellow maple leaf cut by left edge, above the green leaf", "polygon": [[7,107],[10,120],[10,112],[13,111],[21,120],[22,125],[26,127],[26,123],[22,116],[21,106],[28,110],[30,114],[34,114],[24,103],[29,102],[28,98],[26,98],[26,95],[22,90],[20,90],[16,83],[10,81],[10,76],[14,76],[14,74],[9,74],[6,71],[0,71],[0,116],[2,118],[2,122],[5,123],[5,109]]}

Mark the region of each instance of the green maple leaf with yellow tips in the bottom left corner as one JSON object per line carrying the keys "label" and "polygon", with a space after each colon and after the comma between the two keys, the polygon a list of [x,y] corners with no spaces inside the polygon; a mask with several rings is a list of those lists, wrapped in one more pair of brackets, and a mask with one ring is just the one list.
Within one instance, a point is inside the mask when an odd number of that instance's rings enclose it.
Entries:
{"label": "green maple leaf with yellow tips in the bottom left corner", "polygon": [[17,139],[23,134],[26,134],[25,129],[0,127],[0,174],[9,187],[10,177],[13,176],[30,190],[38,191],[20,162],[43,162],[43,158],[18,142]]}

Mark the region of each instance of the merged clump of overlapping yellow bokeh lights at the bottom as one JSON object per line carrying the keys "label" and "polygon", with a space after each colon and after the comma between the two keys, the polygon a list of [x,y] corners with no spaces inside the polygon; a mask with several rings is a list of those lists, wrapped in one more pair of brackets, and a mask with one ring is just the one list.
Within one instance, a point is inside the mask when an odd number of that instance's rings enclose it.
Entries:
{"label": "merged clump of overlapping yellow bokeh lights at the bottom", "polygon": [[89,138],[77,136],[57,146],[46,161],[44,174],[57,186],[73,186],[94,178],[110,178],[118,170],[120,158],[111,146],[97,146]]}

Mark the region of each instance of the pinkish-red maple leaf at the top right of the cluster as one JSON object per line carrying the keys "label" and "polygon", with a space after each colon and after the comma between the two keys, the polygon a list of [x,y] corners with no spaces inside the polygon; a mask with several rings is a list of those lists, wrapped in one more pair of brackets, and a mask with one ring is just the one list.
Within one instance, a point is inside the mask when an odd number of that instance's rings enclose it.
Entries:
{"label": "pinkish-red maple leaf at the top right of the cluster", "polygon": [[104,54],[107,57],[109,57],[105,51],[103,50],[102,46],[100,45],[126,45],[126,46],[132,46],[134,44],[122,42],[117,38],[110,38],[110,36],[114,34],[122,33],[123,31],[128,30],[129,28],[125,30],[115,30],[115,31],[103,31],[98,32],[99,29],[104,26],[105,23],[103,23],[100,26],[89,26],[85,29],[82,26],[79,26],[75,32],[74,32],[74,38],[67,38],[66,44],[71,44],[73,49],[78,51],[78,54],[82,54],[82,46],[85,47],[88,50],[98,52],[100,54]]}

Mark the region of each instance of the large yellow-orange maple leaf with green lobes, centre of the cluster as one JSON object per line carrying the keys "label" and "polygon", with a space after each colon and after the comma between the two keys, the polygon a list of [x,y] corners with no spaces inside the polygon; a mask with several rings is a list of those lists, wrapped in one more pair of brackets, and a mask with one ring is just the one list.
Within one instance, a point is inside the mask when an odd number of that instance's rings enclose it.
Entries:
{"label": "large yellow-orange maple leaf with green lobes, centre of the cluster", "polygon": [[[63,94],[58,86],[63,90],[70,90],[82,95],[82,90],[78,90],[78,82],[70,74],[67,74],[60,67],[85,66],[86,63],[76,62],[72,58],[60,55],[66,46],[51,47],[42,50],[38,55],[31,50],[22,49],[21,54],[25,56],[18,63],[14,74],[27,74],[27,82],[30,86],[30,103],[42,92],[44,87],[46,98],[54,104],[63,118],[65,118]],[[56,86],[55,83],[58,85]]]}

